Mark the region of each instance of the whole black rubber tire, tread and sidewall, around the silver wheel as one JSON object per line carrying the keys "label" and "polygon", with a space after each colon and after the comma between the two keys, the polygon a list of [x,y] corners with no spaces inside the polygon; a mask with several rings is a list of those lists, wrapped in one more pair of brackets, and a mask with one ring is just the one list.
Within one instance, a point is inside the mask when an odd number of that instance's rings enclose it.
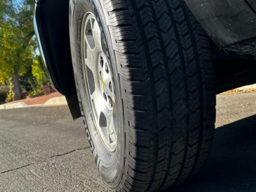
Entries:
{"label": "whole black rubber tire, tread and sidewall, around the silver wheel", "polygon": [[[118,131],[100,140],[84,76],[81,29],[92,12],[115,81]],[[70,42],[77,95],[99,173],[116,191],[181,184],[204,165],[216,118],[208,37],[183,0],[71,0]]]}

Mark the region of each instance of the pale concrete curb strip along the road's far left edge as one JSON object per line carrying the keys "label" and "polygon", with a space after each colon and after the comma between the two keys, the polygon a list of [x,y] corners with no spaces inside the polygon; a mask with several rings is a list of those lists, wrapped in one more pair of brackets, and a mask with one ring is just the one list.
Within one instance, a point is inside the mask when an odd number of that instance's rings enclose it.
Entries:
{"label": "pale concrete curb strip along the road's far left edge", "polygon": [[67,100],[65,97],[53,97],[44,104],[28,105],[25,102],[15,102],[10,104],[0,105],[0,110],[3,109],[18,109],[18,108],[44,108],[53,106],[65,106],[67,105]]}

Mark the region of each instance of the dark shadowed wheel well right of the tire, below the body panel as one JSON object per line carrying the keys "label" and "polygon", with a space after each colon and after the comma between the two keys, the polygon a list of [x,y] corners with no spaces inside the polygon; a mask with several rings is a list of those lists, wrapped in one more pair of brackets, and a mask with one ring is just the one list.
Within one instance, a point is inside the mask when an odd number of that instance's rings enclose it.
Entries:
{"label": "dark shadowed wheel well right of the tire, below the body panel", "polygon": [[220,49],[214,42],[211,44],[216,93],[256,83],[256,61],[253,56]]}

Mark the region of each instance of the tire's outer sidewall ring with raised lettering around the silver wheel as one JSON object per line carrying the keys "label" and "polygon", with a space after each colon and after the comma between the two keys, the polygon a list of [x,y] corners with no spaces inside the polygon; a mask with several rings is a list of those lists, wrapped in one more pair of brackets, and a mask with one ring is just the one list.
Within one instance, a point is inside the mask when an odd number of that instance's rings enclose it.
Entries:
{"label": "tire's outer sidewall ring with raised lettering around the silver wheel", "polygon": [[[106,42],[106,49],[108,49],[109,60],[111,61],[111,70],[113,72],[113,81],[115,82],[115,97],[118,103],[118,132],[117,143],[115,152],[109,152],[104,147],[97,129],[93,122],[93,116],[90,111],[90,104],[88,102],[86,81],[83,76],[83,60],[81,54],[81,27],[84,14],[86,12],[93,12],[95,18],[100,26],[100,30],[104,36]],[[70,45],[72,52],[72,63],[74,68],[74,76],[76,81],[77,95],[79,104],[86,125],[86,134],[90,147],[92,148],[92,154],[100,172],[100,175],[104,181],[114,188],[118,186],[122,172],[124,169],[124,107],[122,105],[122,94],[120,80],[118,76],[118,69],[116,65],[115,53],[112,48],[112,40],[109,34],[108,26],[106,24],[106,18],[104,17],[104,11],[99,1],[89,0],[71,0],[70,1]]]}

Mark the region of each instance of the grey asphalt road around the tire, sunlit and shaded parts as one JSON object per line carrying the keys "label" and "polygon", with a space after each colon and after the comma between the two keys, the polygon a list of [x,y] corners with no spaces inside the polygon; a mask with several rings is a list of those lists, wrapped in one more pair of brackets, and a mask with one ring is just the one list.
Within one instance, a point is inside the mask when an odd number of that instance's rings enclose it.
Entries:
{"label": "grey asphalt road around the tire, sunlit and shaded parts", "polygon": [[[256,191],[256,93],[218,95],[217,111],[208,163],[173,192]],[[1,110],[0,191],[108,191],[82,120],[67,106]]]}

